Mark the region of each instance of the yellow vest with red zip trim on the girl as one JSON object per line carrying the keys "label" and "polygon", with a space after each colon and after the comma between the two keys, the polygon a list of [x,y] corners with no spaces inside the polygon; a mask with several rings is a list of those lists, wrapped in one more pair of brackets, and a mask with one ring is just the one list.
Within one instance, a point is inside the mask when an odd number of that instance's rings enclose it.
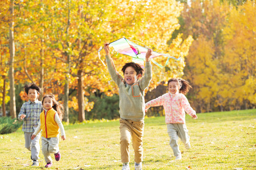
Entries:
{"label": "yellow vest with red zip trim on the girl", "polygon": [[59,126],[54,120],[55,114],[58,114],[53,108],[49,109],[46,114],[43,111],[40,114],[42,137],[44,138],[55,138],[59,135]]}

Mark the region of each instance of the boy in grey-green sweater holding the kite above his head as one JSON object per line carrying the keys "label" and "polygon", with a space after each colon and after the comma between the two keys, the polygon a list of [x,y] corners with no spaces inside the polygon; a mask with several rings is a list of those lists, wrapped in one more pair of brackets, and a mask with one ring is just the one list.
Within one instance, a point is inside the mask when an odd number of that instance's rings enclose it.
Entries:
{"label": "boy in grey-green sweater holding the kite above his head", "polygon": [[[145,73],[140,65],[134,62],[125,63],[122,68],[123,76],[115,70],[113,59],[110,57],[109,44],[104,44],[106,63],[111,78],[119,87],[120,113],[120,145],[122,170],[129,168],[129,146],[131,139],[134,148],[135,169],[142,169],[143,159],[143,131],[145,116],[144,90],[152,79],[150,56],[152,49],[146,54]],[[139,79],[141,78],[141,79]]]}

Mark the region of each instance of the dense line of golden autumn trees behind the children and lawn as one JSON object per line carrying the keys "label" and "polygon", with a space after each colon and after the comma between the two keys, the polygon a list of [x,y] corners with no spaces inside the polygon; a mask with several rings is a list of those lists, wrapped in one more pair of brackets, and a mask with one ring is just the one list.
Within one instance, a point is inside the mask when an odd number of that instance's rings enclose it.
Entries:
{"label": "dense line of golden autumn trees behind the children and lawn", "polygon": [[[16,117],[27,99],[22,87],[35,82],[63,101],[65,121],[117,118],[118,89],[96,52],[122,36],[184,61],[163,69],[153,64],[146,101],[179,77],[191,83],[188,99],[197,112],[255,107],[255,1],[6,0],[0,6],[3,115],[7,110]],[[113,56],[118,70],[131,60]]]}

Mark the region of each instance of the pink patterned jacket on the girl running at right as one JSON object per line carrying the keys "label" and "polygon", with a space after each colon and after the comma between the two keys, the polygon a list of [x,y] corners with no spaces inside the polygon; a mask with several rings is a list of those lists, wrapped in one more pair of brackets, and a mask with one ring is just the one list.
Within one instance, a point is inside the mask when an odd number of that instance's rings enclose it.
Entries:
{"label": "pink patterned jacket on the girl running at right", "polygon": [[146,103],[146,111],[150,107],[156,107],[163,105],[164,111],[166,112],[166,124],[185,124],[185,112],[190,115],[196,114],[185,95],[179,94],[177,91],[176,94],[171,94],[168,92],[156,99],[150,100]]}

